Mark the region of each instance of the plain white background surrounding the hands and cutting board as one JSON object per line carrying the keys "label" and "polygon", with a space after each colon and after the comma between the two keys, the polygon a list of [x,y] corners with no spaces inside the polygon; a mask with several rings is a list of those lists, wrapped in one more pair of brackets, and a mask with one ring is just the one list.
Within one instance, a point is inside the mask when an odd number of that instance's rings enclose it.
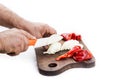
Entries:
{"label": "plain white background surrounding the hands and cutting board", "polygon": [[15,57],[0,54],[0,80],[120,79],[119,0],[0,0],[0,3],[27,20],[51,25],[59,34],[81,34],[96,58],[93,68],[74,68],[48,77],[39,74],[34,48],[29,47]]}

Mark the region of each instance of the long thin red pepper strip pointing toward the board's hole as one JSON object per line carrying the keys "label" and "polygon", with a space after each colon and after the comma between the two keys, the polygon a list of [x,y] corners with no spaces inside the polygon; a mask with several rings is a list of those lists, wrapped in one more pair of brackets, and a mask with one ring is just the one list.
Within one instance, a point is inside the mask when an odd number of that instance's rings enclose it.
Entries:
{"label": "long thin red pepper strip pointing toward the board's hole", "polygon": [[61,59],[64,59],[64,58],[69,58],[69,57],[72,57],[76,52],[80,51],[81,50],[81,47],[80,46],[75,46],[73,47],[70,51],[68,51],[67,53],[61,55],[61,56],[58,56],[56,58],[56,60],[61,60]]}

